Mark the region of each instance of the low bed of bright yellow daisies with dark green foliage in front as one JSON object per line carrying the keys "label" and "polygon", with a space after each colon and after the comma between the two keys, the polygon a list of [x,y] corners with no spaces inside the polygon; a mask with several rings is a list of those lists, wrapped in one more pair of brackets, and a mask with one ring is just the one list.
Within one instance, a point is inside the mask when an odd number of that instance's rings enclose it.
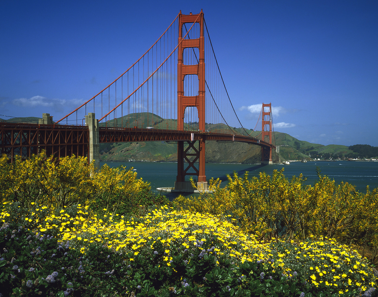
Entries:
{"label": "low bed of bright yellow daisies with dark green foliage in front", "polygon": [[[3,221],[12,217],[7,214]],[[67,228],[68,219],[77,224]],[[43,278],[31,289],[66,295],[357,296],[376,288],[376,271],[347,246],[333,240],[263,243],[210,214],[163,207],[145,217],[112,219],[77,205],[47,216],[35,233],[16,227],[24,221],[2,228],[1,238],[11,240],[1,243],[6,264],[0,265],[6,281],[14,276],[12,289],[25,292],[28,280],[37,278],[22,274],[29,268]],[[14,248],[19,241],[27,246],[23,251]]]}

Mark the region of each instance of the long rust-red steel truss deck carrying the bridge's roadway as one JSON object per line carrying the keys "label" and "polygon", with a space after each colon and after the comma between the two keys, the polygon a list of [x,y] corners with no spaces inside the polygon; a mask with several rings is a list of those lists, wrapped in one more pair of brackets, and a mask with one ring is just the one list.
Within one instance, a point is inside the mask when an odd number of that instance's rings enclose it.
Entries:
{"label": "long rust-red steel truss deck carrying the bridge's roadway", "polygon": [[[147,128],[116,128],[99,126],[99,143],[136,141],[237,141],[275,148],[257,138],[227,133],[178,131]],[[54,125],[28,123],[0,123],[0,155],[7,154],[11,161],[15,155],[29,158],[31,154],[46,150],[56,158],[88,156],[89,130],[81,125]]]}

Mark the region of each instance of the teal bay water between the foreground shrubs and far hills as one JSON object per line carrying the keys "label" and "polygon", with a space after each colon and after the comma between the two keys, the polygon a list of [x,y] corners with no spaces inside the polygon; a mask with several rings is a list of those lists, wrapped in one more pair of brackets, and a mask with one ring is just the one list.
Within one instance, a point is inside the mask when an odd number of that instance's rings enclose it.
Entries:
{"label": "teal bay water between the foreground shrubs and far hills", "polygon": [[[100,165],[104,162],[100,162]],[[175,162],[108,162],[110,167],[125,165],[133,167],[138,173],[138,178],[143,178],[151,184],[152,190],[158,187],[173,187],[177,175],[177,163]],[[271,175],[273,170],[284,168],[287,178],[302,173],[306,178],[307,184],[314,184],[318,179],[316,167],[319,167],[322,175],[328,175],[336,183],[341,181],[349,182],[356,187],[359,192],[366,192],[366,186],[370,190],[378,187],[378,162],[359,162],[359,161],[313,161],[313,162],[291,162],[290,165],[258,165],[258,164],[218,164],[206,163],[206,178],[220,178],[222,185],[227,184],[227,174],[232,175],[234,171],[239,175],[249,171],[250,176],[258,176],[265,171]],[[157,191],[156,191],[157,192]],[[173,198],[175,195],[171,194]],[[171,196],[167,195],[167,196]]]}

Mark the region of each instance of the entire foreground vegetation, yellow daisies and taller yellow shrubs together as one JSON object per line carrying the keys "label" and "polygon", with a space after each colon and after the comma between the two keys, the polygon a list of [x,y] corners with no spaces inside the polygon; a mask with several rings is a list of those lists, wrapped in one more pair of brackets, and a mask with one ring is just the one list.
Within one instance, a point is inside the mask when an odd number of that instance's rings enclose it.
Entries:
{"label": "entire foreground vegetation, yellow daisies and taller yellow shrubs together", "polygon": [[[337,210],[342,214],[332,213],[336,206],[329,210],[327,189],[334,185],[321,178],[321,184],[311,187],[312,196],[304,195],[295,203],[294,198],[310,188],[301,183],[301,176],[288,181],[276,172],[271,177],[260,175],[259,188],[251,191],[246,185],[257,181],[248,175],[230,177],[225,189],[212,181],[214,194],[180,197],[172,207],[165,197],[151,194],[148,183],[137,179],[132,169],[104,166],[95,172],[85,158],[63,158],[57,164],[43,154],[10,164],[3,156],[0,292],[3,296],[375,296],[378,272],[349,245],[341,244],[347,234],[343,226],[352,228],[354,223],[346,211],[342,213],[345,207]],[[342,196],[348,197],[352,188],[338,187],[343,189],[336,191],[340,207]],[[249,214],[241,202],[247,201],[247,193],[265,195],[251,204]],[[367,196],[364,203],[370,201],[371,206],[376,192],[368,193],[370,200]],[[285,205],[276,213],[275,195],[283,195]],[[308,213],[315,203],[306,206],[308,197],[322,197],[328,204]],[[267,210],[256,204],[264,199],[270,201]],[[146,205],[146,213],[140,213],[139,205]],[[294,206],[301,210],[295,212]],[[327,220],[330,212],[337,222],[333,227]],[[322,219],[315,219],[318,213]],[[354,231],[359,237],[353,237],[366,246],[375,244],[367,225],[375,224],[373,210],[370,213],[366,224]],[[362,215],[359,220],[363,222]]]}

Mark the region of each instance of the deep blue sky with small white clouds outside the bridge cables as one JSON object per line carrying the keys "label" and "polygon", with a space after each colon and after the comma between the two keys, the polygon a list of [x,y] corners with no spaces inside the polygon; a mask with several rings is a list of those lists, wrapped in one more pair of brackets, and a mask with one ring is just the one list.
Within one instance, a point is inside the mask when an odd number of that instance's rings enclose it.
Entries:
{"label": "deep blue sky with small white clouds outside the bridge cables", "polygon": [[378,146],[377,1],[3,1],[0,118],[54,119],[131,66],[178,12],[203,9],[232,103],[254,128]]}

